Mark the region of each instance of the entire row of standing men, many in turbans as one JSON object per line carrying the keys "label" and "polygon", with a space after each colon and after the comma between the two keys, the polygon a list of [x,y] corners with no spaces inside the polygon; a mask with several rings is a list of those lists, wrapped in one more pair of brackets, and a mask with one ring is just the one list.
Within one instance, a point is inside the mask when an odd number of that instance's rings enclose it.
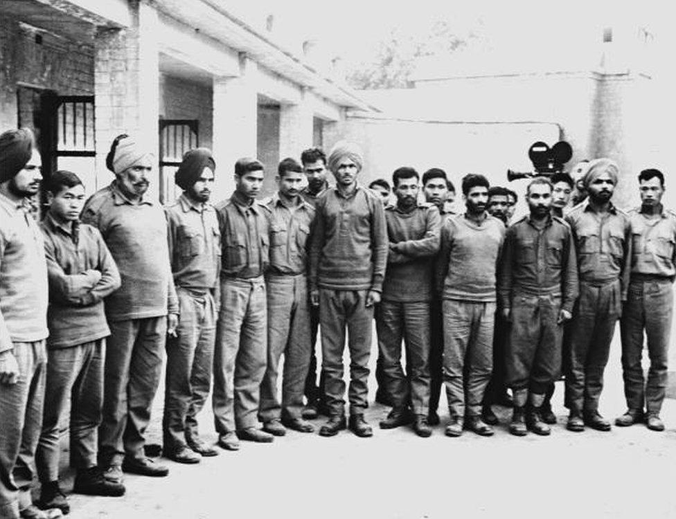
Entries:
{"label": "entire row of standing men, many in turbans", "polygon": [[463,214],[450,210],[452,184],[438,168],[422,179],[398,168],[395,201],[383,203],[357,181],[363,154],[346,141],[328,157],[313,148],[300,163],[285,158],[278,191],[265,200],[257,199],[264,165],[241,158],[233,196],[213,206],[215,161],[197,148],[176,172],[183,193],[162,208],[146,196],[150,148],[123,134],[107,156],[114,181],[85,203],[78,176],[56,172],[37,224],[28,201],[39,192],[40,163],[30,131],[0,136],[2,518],[69,511],[59,485],[69,405],[75,492],[123,495],[125,472],[168,474],[144,449],[165,351],[163,450],[176,462],[218,454],[197,424],[212,378],[226,450],[287,429],[313,432],[308,419],[318,413],[328,417],[319,435],[349,427],[370,437],[374,318],[378,400],[392,407],[381,428],[412,424],[432,435],[445,385],[448,436],[492,435],[491,405],[504,403],[514,407],[512,434],[547,435],[563,363],[567,427],[609,430],[598,399],[621,319],[628,410],[616,424],[645,419],[664,429],[676,216],[661,206],[657,170],[639,175],[642,205],[629,214],[612,204],[619,171],[608,159],[585,166],[587,200],[570,211],[573,181],[538,177],[526,193],[529,214],[508,226],[517,195],[478,174],[463,178]]}

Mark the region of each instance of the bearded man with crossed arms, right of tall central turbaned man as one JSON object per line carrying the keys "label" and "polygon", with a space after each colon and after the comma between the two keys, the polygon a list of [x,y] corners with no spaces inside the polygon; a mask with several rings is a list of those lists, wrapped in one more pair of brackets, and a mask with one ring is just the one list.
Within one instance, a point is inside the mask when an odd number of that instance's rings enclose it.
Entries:
{"label": "bearded man with crossed arms, right of tall central turbaned man", "polygon": [[[429,302],[441,218],[436,206],[418,203],[419,182],[412,167],[400,167],[392,175],[397,203],[385,208],[389,253],[375,325],[384,388],[392,399],[392,410],[380,428],[391,429],[413,420],[416,434],[429,437]],[[406,346],[405,375],[402,340]]]}

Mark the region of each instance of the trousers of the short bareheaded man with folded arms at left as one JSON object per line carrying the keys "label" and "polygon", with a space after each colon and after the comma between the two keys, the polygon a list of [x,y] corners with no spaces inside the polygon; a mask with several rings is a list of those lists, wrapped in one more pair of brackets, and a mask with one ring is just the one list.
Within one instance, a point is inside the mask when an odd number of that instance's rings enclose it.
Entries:
{"label": "trousers of the short bareheaded man with folded arms at left", "polygon": [[35,453],[43,483],[59,479],[59,426],[69,406],[71,466],[78,470],[96,466],[105,349],[106,340],[99,339],[47,353],[42,433]]}

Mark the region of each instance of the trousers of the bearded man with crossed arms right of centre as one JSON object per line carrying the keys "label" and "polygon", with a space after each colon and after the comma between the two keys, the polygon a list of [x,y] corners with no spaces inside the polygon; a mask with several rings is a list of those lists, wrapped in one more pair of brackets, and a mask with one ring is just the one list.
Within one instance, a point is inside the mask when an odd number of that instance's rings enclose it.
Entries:
{"label": "trousers of the bearded man with crossed arms right of centre", "polygon": [[[382,301],[375,327],[382,358],[383,389],[394,408],[411,403],[413,413],[427,415],[429,402],[429,302]],[[401,364],[402,340],[406,347],[406,371]]]}

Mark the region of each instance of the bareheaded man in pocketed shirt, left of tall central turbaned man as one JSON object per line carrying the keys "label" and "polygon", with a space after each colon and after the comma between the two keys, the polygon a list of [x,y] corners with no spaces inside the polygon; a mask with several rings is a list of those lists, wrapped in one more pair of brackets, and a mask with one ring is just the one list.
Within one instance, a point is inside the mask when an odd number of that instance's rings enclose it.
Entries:
{"label": "bareheaded man in pocketed shirt, left of tall central turbaned man", "polygon": [[[303,388],[310,365],[308,244],[314,207],[301,197],[303,168],[285,158],[277,168],[278,192],[267,202],[270,213],[270,266],[267,284],[267,368],[260,385],[258,419],[275,436],[286,428],[313,432],[303,420]],[[284,354],[282,402],[277,397],[279,360]]]}

